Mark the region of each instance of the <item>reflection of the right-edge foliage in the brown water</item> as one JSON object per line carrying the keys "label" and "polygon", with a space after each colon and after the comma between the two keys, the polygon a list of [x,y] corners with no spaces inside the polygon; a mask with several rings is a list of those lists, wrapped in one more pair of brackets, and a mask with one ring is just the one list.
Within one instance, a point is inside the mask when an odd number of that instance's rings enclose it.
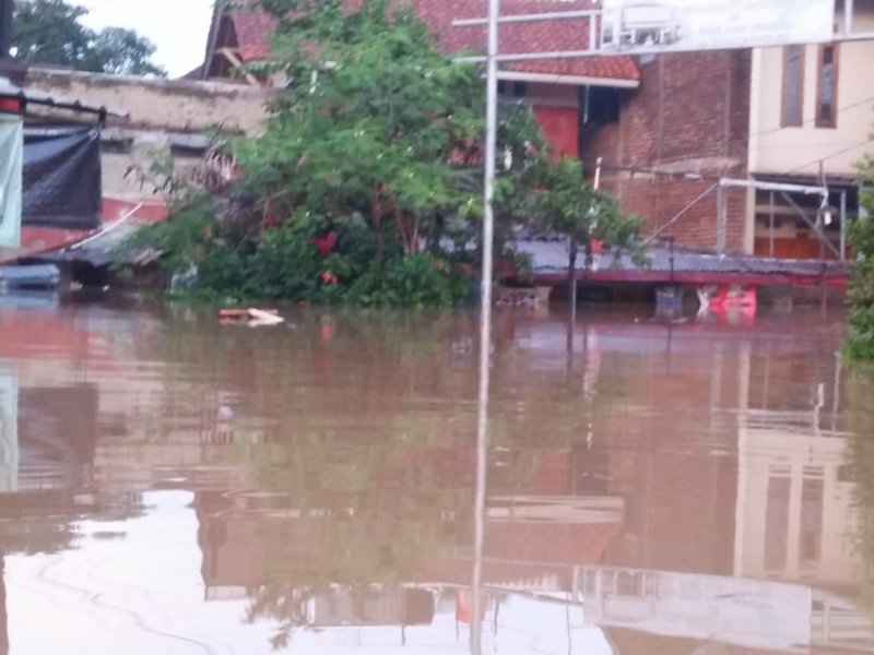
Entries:
{"label": "reflection of the right-edge foliage in the brown water", "polygon": [[874,368],[859,367],[843,380],[847,429],[851,432],[845,475],[855,483],[859,527],[855,546],[865,562],[862,600],[874,610]]}

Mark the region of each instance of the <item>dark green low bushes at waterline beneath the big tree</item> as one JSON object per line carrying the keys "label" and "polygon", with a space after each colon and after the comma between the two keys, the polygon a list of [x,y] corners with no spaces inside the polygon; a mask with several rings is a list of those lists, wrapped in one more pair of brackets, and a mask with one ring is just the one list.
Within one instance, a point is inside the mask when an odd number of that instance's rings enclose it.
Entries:
{"label": "dark green low bushes at waterline beneath the big tree", "polygon": [[[339,235],[322,257],[312,239]],[[404,255],[400,243],[383,243],[388,261],[376,262],[375,235],[353,217],[327,222],[302,216],[257,240],[223,235],[205,202],[177,211],[143,228],[128,248],[155,248],[170,276],[194,273],[188,295],[237,300],[288,300],[368,307],[452,307],[469,296],[469,282],[442,258]]]}

